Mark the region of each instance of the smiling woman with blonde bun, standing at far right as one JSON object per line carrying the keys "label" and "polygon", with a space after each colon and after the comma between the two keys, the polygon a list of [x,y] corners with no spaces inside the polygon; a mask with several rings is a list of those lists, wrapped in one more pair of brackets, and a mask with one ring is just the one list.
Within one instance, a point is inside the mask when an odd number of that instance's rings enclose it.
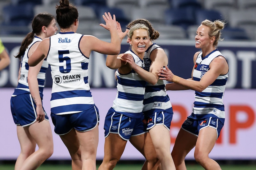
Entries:
{"label": "smiling woman with blonde bun, standing at far right", "polygon": [[[168,67],[161,68],[159,79],[173,83],[166,90],[195,90],[192,114],[181,126],[172,156],[176,169],[186,169],[185,157],[195,147],[195,160],[205,169],[220,170],[219,164],[209,158],[225,121],[223,95],[226,88],[229,66],[217,49],[225,22],[204,20],[197,28],[192,77],[183,79],[174,75]],[[189,139],[189,140],[187,140]]]}

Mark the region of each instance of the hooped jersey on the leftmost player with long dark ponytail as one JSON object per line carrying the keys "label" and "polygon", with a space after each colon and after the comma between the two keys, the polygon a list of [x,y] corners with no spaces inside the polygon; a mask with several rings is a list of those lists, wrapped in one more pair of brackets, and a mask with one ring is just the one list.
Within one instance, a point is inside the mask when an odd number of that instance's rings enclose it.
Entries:
{"label": "hooped jersey on the leftmost player with long dark ponytail", "polygon": [[[29,73],[28,52],[29,52],[29,49],[31,48],[31,46],[34,43],[38,42],[38,41],[42,41],[42,39],[35,36],[32,43],[29,44],[28,48],[26,49],[25,53],[22,56],[21,64],[20,64],[20,67],[21,67],[20,68],[20,78],[19,78],[19,81],[18,81],[18,86],[17,86],[17,88],[15,88],[14,93],[12,94],[12,96],[16,96],[16,95],[19,95],[19,94],[30,93],[29,84],[28,84],[28,73]],[[44,90],[44,87],[45,87],[45,73],[46,73],[47,68],[48,68],[48,62],[45,59],[43,61],[42,67],[41,67],[41,69],[40,69],[40,71],[37,75],[39,93],[40,93],[41,98],[43,98],[43,90]]]}

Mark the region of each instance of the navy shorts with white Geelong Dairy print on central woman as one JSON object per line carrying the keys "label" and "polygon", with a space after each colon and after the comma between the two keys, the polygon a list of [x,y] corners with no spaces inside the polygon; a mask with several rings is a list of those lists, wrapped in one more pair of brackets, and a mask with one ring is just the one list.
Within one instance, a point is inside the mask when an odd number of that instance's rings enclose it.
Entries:
{"label": "navy shorts with white Geelong Dairy print on central woman", "polygon": [[132,118],[117,112],[108,111],[104,130],[105,137],[110,133],[118,134],[123,140],[129,140],[132,136],[137,136],[148,132],[143,124],[143,115],[140,118]]}

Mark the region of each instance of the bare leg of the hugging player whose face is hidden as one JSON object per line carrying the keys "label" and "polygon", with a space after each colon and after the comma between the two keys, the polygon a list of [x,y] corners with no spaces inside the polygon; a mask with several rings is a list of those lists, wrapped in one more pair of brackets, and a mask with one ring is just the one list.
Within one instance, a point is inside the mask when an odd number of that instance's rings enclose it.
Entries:
{"label": "bare leg of the hugging player whose face is hidden", "polygon": [[157,157],[163,170],[174,170],[175,165],[170,153],[170,131],[164,125],[156,125],[149,130]]}

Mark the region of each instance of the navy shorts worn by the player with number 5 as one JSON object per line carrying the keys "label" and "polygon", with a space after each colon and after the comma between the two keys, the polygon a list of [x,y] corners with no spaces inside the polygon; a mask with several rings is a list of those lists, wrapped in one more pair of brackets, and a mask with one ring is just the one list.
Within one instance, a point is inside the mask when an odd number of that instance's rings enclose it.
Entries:
{"label": "navy shorts worn by the player with number 5", "polygon": [[57,135],[65,135],[73,128],[79,132],[86,132],[94,129],[99,123],[99,110],[94,105],[86,111],[73,114],[51,113],[51,118]]}

